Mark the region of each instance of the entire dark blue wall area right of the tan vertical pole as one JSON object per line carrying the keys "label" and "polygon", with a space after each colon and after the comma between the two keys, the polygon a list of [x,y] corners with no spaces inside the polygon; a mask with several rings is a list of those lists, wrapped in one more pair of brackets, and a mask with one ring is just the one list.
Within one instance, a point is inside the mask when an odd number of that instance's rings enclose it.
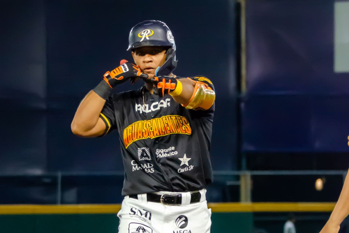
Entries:
{"label": "entire dark blue wall area right of the tan vertical pole", "polygon": [[335,73],[334,1],[246,3],[243,151],[348,152],[349,73]]}

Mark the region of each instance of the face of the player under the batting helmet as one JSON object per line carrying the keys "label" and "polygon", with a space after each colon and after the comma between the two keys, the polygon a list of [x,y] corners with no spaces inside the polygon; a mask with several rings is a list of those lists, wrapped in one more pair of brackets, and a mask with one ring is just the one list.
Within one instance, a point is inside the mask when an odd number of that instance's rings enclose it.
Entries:
{"label": "face of the player under the batting helmet", "polygon": [[148,74],[148,79],[154,77],[155,70],[162,66],[166,60],[166,50],[159,46],[144,46],[134,49],[132,57],[142,72]]}

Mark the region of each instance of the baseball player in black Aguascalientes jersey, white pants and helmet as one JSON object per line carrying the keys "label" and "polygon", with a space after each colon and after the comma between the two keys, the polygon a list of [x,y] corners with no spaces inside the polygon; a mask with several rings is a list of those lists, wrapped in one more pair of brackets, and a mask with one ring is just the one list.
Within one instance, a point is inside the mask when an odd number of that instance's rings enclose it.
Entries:
{"label": "baseball player in black Aguascalientes jersey, white pants and helmet", "polygon": [[[127,50],[134,63],[121,60],[104,74],[80,103],[72,131],[82,137],[119,133],[125,167],[120,233],[210,232],[205,187],[213,179],[213,84],[172,73],[176,45],[161,21],[136,24]],[[127,80],[144,86],[110,96]]]}

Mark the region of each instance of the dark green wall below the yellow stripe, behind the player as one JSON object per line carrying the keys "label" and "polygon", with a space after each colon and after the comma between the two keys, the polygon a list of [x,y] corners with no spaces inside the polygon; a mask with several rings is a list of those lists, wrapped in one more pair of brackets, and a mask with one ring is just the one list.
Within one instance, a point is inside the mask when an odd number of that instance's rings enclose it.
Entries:
{"label": "dark green wall below the yellow stripe, behind the player", "polygon": [[[211,233],[252,233],[252,213],[213,213],[211,219]],[[0,215],[4,233],[117,233],[118,224],[116,214]]]}

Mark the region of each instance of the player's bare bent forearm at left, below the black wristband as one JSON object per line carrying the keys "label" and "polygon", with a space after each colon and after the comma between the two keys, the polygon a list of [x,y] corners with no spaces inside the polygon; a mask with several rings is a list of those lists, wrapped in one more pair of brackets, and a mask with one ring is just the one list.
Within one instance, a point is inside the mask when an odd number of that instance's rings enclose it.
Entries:
{"label": "player's bare bent forearm at left, below the black wristband", "polygon": [[71,128],[74,133],[86,132],[97,124],[99,113],[105,100],[91,90],[81,101],[73,118]]}

